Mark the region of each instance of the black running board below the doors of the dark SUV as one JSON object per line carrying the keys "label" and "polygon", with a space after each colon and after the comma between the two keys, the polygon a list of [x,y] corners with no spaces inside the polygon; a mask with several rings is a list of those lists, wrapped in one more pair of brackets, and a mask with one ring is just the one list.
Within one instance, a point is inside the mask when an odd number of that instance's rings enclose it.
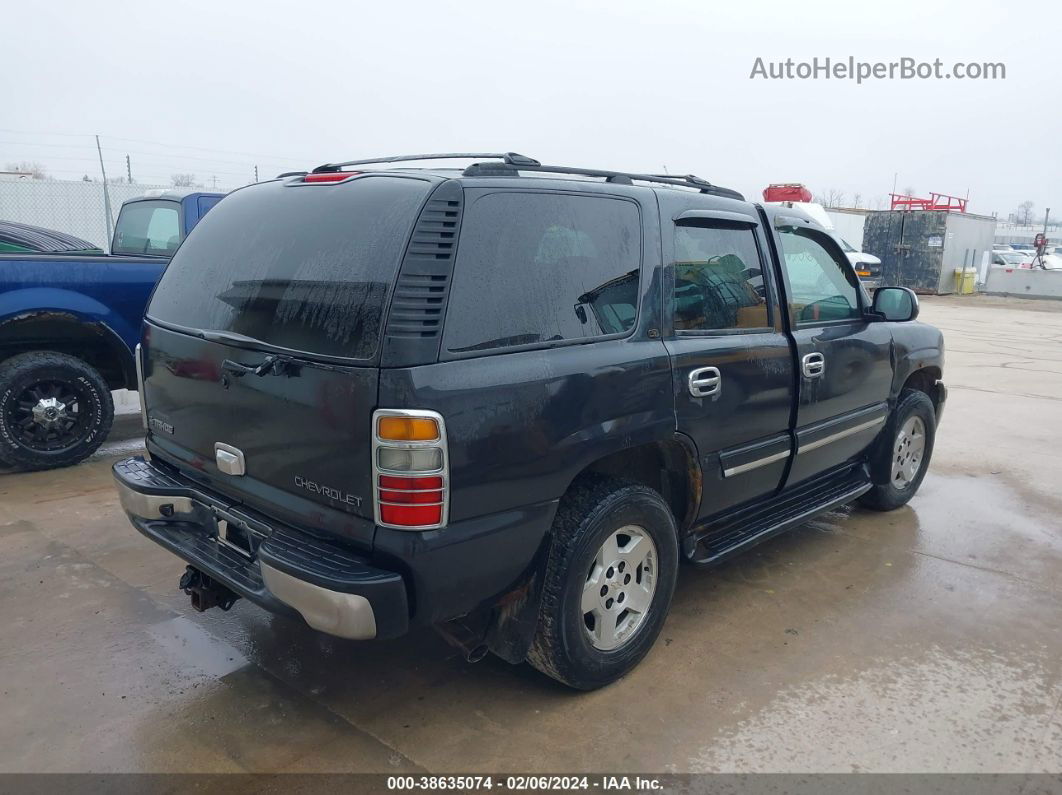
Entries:
{"label": "black running board below the doors of the dark SUV", "polygon": [[791,491],[783,491],[767,503],[709,521],[686,538],[683,551],[697,566],[715,566],[760,541],[852,502],[872,486],[863,466],[835,472]]}

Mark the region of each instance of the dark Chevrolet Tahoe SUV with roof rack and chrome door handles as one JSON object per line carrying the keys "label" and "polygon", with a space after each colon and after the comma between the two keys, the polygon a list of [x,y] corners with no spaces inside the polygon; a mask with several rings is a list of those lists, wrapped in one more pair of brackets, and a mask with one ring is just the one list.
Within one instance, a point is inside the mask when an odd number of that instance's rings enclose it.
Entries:
{"label": "dark Chevrolet Tahoe SUV with roof rack and chrome door handles", "polygon": [[[407,168],[428,157],[466,168]],[[799,210],[516,155],[332,163],[230,194],[138,351],[114,467],[199,609],[434,626],[575,688],[630,671],[680,561],[906,503],[941,333]]]}

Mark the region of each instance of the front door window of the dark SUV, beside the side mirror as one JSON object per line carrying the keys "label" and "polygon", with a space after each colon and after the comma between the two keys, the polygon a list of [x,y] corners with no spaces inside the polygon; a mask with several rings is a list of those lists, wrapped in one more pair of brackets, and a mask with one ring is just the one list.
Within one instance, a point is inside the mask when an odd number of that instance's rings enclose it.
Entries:
{"label": "front door window of the dark SUV, beside the side mirror", "polygon": [[835,258],[808,229],[784,228],[778,238],[789,277],[789,307],[795,323],[860,316],[858,277],[847,262]]}

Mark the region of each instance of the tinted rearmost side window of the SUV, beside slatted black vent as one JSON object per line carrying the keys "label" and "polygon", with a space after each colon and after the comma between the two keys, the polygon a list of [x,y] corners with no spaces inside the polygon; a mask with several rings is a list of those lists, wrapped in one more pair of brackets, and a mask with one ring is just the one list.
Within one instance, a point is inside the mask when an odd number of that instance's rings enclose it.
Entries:
{"label": "tinted rearmost side window of the SUV, beside slatted black vent", "polygon": [[634,327],[641,222],[632,202],[492,193],[466,211],[446,348],[492,350]]}

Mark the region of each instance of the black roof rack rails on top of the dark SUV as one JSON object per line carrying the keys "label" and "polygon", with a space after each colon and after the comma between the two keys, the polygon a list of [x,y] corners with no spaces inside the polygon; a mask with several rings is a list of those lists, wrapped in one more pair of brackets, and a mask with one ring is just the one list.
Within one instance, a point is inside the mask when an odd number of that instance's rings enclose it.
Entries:
{"label": "black roof rack rails on top of the dark SUV", "polygon": [[[744,201],[744,196],[731,188],[713,185],[707,179],[695,174],[673,176],[671,174],[639,174],[628,171],[605,171],[603,169],[579,169],[570,166],[543,166],[538,160],[516,152],[445,152],[430,155],[393,155],[391,157],[373,157],[367,160],[345,160],[344,162],[328,162],[318,166],[312,173],[322,174],[340,171],[348,166],[370,166],[386,162],[409,162],[411,160],[467,160],[493,158],[498,163],[475,162],[464,170],[465,176],[502,176],[515,175],[519,171],[537,171],[544,174],[575,174],[579,176],[599,176],[605,182],[617,185],[632,185],[634,182],[655,183],[657,185],[676,185],[683,188],[695,188],[701,193]],[[508,168],[507,168],[508,167]]]}

